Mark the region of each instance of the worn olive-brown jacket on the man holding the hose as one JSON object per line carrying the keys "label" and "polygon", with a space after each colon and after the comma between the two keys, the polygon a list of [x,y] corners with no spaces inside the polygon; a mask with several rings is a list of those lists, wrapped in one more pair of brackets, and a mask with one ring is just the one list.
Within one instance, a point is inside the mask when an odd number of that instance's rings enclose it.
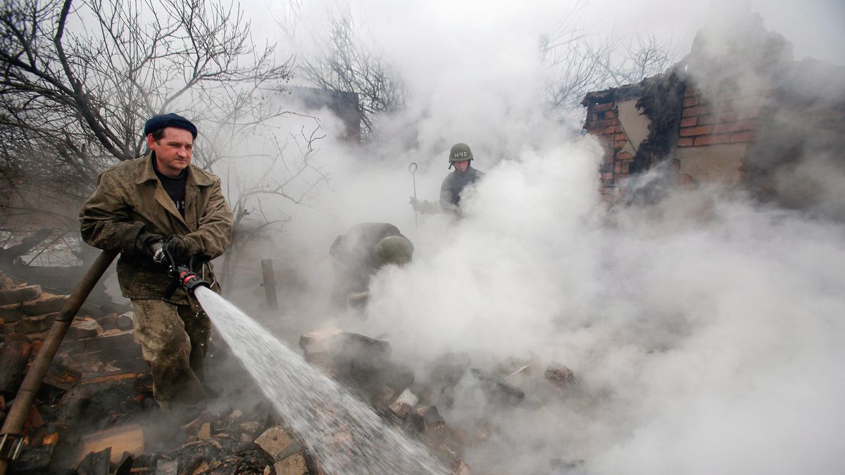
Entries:
{"label": "worn olive-brown jacket on the man holding the hose", "polygon": [[[155,176],[152,160],[146,155],[102,172],[94,194],[79,211],[79,225],[86,243],[121,253],[117,281],[124,297],[163,300],[172,279],[166,276],[165,265],[155,264],[135,249],[139,232],[161,234],[165,240],[174,234],[194,238],[203,253],[214,259],[223,254],[232,237],[232,210],[223,197],[220,178],[191,165],[183,217]],[[212,282],[210,264],[204,271],[204,279]],[[219,292],[218,285],[213,287]],[[181,288],[166,300],[188,303]]]}

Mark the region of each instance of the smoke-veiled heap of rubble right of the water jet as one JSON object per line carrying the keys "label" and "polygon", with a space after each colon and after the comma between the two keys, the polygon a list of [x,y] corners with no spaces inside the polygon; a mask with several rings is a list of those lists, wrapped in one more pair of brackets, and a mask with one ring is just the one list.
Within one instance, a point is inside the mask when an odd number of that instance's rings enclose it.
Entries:
{"label": "smoke-veiled heap of rubble right of the water jet", "polygon": [[[309,363],[323,369],[352,389],[386,421],[423,440],[455,473],[469,473],[463,460],[466,447],[481,445],[497,430],[493,414],[528,401],[537,406],[550,399],[589,403],[573,371],[550,363],[541,370],[540,359],[506,358],[490,371],[473,368],[465,352],[447,352],[428,364],[425,379],[396,362],[390,343],[337,328],[305,333],[299,347]],[[488,418],[472,427],[459,428],[446,422],[438,407],[450,409],[458,391],[471,389],[482,396]]]}

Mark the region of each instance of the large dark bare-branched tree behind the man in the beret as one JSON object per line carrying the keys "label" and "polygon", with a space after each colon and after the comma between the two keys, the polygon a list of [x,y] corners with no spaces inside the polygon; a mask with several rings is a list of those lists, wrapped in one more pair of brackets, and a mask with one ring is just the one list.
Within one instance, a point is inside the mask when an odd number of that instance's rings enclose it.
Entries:
{"label": "large dark bare-branched tree behind the man in the beret", "polygon": [[0,178],[3,187],[24,188],[7,204],[26,208],[23,196],[40,188],[75,206],[104,167],[140,155],[140,130],[155,113],[191,117],[201,135],[195,160],[214,167],[227,151],[204,139],[232,145],[284,113],[270,95],[291,68],[290,60],[275,61],[274,45],[254,46],[243,12],[231,5],[7,0],[0,7]]}

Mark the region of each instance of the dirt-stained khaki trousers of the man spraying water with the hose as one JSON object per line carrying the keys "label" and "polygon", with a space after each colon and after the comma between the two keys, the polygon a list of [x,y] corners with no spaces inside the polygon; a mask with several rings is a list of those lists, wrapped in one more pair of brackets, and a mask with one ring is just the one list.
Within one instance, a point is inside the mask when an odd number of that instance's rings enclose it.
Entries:
{"label": "dirt-stained khaki trousers of the man spraying water with the hose", "polygon": [[163,408],[204,407],[203,360],[210,322],[197,306],[132,299],[135,340],[153,376],[153,396]]}

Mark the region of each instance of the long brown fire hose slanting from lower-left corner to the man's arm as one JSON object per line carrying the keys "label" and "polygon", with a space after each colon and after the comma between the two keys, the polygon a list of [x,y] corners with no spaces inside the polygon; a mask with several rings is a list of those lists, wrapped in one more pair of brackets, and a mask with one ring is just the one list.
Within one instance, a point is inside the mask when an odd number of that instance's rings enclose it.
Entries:
{"label": "long brown fire hose slanting from lower-left corner to the man's arm", "polygon": [[88,298],[108,266],[112,264],[115,256],[117,256],[117,251],[103,251],[97,256],[94,264],[77,284],[74,293],[70,294],[70,298],[64,303],[62,311],[53,320],[41,349],[35,354],[30,370],[27,371],[18,395],[14,398],[14,404],[8,410],[3,429],[0,430],[0,475],[5,474],[9,463],[20,455],[20,450],[24,446],[24,438],[20,433],[24,429],[26,417],[30,414],[35,393],[41,387],[41,381],[44,380],[47,369],[50,369],[52,358],[56,356],[58,347],[62,344],[76,313],[79,312],[79,308],[85,303],[85,298]]}

